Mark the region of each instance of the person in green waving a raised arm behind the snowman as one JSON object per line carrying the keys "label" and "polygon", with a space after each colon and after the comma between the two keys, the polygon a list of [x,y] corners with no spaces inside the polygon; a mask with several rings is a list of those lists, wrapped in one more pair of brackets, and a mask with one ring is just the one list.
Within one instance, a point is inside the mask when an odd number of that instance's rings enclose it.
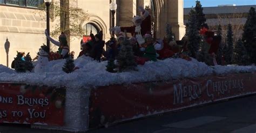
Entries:
{"label": "person in green waving a raised arm behind the snowman", "polygon": [[58,53],[62,56],[62,58],[68,58],[69,57],[69,46],[68,46],[68,41],[66,40],[66,35],[62,32],[59,35],[59,41],[56,41],[50,37],[47,29],[45,29],[44,33],[45,33],[47,39],[49,39],[54,45],[59,47]]}

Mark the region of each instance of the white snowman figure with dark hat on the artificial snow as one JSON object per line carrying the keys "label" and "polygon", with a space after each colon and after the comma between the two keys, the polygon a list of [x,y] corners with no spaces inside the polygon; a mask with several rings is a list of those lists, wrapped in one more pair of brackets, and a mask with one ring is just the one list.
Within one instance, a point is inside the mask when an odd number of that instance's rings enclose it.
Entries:
{"label": "white snowman figure with dark hat on the artificial snow", "polygon": [[41,46],[41,48],[39,49],[39,57],[37,59],[37,64],[35,67],[35,73],[41,73],[41,72],[45,72],[45,65],[48,64],[49,60],[48,60],[48,56],[50,53],[50,48],[43,45]]}

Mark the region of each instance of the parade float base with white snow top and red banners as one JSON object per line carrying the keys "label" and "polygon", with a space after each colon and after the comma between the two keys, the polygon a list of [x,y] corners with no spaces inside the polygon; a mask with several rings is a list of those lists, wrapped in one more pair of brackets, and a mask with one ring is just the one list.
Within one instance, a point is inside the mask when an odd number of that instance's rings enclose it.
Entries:
{"label": "parade float base with white snow top and red banners", "polygon": [[43,73],[0,65],[1,122],[32,128],[86,131],[256,92],[255,66],[208,66],[194,58],[167,58],[110,73],[107,61],[82,56],[66,73],[65,60]]}

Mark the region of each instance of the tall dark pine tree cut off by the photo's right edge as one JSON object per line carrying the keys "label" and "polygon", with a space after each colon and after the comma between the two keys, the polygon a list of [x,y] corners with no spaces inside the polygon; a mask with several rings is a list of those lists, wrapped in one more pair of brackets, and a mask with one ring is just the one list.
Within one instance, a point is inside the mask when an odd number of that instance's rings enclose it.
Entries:
{"label": "tall dark pine tree cut off by the photo's right edge", "polygon": [[250,64],[256,63],[256,13],[254,8],[251,8],[249,11],[248,18],[244,25],[242,41],[251,59]]}

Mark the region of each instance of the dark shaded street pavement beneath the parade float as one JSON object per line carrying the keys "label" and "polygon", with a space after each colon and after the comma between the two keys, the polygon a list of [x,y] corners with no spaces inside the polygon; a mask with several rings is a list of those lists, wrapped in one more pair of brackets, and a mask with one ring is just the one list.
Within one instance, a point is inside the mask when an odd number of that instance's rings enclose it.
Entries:
{"label": "dark shaded street pavement beneath the parade float", "polygon": [[[15,125],[0,125],[0,133],[67,131],[29,129]],[[145,119],[119,123],[87,133],[255,133],[256,95],[232,99],[172,113],[154,115]],[[68,133],[68,132],[67,132]]]}

